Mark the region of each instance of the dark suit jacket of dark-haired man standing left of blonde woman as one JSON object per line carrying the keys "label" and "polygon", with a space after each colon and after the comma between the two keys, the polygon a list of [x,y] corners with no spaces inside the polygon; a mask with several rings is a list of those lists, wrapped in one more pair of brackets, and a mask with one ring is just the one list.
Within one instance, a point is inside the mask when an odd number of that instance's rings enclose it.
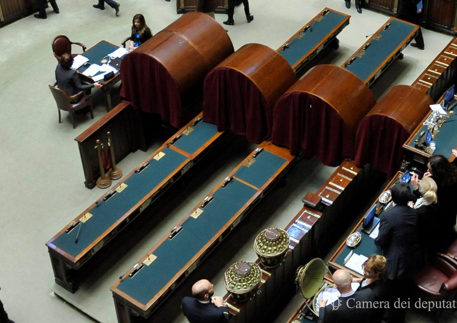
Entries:
{"label": "dark suit jacket of dark-haired man standing left of blonde woman", "polygon": [[410,278],[417,274],[423,262],[417,211],[396,205],[388,210],[379,224],[374,243],[387,258],[386,274],[390,280]]}

